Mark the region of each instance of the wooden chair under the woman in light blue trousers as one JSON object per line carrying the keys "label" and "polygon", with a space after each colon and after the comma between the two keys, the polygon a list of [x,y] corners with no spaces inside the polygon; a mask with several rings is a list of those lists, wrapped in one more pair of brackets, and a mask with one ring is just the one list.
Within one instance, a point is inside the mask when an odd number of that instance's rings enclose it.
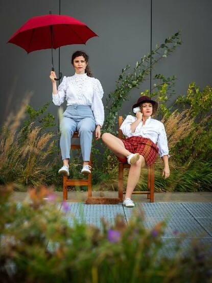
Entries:
{"label": "wooden chair under the woman in light blue trousers", "polygon": [[[79,138],[78,132],[74,132],[73,138]],[[71,150],[74,149],[81,149],[80,145],[71,145]],[[91,154],[90,154],[90,161],[89,166],[91,166]],[[68,197],[68,186],[87,186],[88,187],[88,197],[91,197],[92,190],[91,190],[91,174],[88,174],[87,179],[70,179],[67,176],[63,176],[63,200],[67,200]]]}

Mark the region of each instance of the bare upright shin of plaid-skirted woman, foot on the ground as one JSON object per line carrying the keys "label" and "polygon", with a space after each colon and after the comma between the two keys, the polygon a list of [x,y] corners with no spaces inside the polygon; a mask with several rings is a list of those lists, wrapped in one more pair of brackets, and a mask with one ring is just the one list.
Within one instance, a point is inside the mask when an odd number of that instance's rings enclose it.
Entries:
{"label": "bare upright shin of plaid-skirted woman, foot on the ground", "polygon": [[140,158],[130,166],[129,175],[127,178],[127,189],[125,194],[125,199],[130,198],[132,196],[132,192],[139,180],[140,177],[140,169],[145,167],[145,159],[144,156],[140,155]]}

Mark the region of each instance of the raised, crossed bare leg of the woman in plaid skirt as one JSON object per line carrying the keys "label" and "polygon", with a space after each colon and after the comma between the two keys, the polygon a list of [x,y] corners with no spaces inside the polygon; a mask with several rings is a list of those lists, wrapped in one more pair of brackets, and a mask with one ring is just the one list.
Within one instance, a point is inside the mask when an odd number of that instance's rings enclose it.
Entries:
{"label": "raised, crossed bare leg of the woman in plaid skirt", "polygon": [[102,140],[118,157],[125,158],[131,154],[130,151],[126,150],[123,141],[110,133],[104,133],[102,135]]}

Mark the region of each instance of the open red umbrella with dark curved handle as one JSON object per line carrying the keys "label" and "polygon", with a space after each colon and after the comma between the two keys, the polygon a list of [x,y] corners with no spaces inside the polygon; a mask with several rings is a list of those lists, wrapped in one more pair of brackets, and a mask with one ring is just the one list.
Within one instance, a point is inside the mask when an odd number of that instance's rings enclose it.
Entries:
{"label": "open red umbrella with dark curved handle", "polygon": [[[18,29],[8,40],[27,53],[41,49],[52,49],[52,70],[53,48],[59,48],[68,44],[85,44],[94,36],[98,36],[91,31],[85,23],[76,18],[65,15],[48,14],[36,16],[29,19],[20,29]],[[60,73],[60,80],[62,74]]]}

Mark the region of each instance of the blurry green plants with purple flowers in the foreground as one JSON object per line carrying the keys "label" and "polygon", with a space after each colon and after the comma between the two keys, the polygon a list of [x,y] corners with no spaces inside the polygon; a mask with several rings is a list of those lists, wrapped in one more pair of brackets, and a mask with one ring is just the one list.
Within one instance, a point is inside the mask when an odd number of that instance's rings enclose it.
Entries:
{"label": "blurry green plants with purple flowers in the foreground", "polygon": [[147,229],[140,211],[128,224],[121,216],[111,227],[102,219],[102,231],[77,220],[69,226],[50,190],[30,190],[31,201],[20,206],[9,202],[11,190],[0,188],[3,283],[211,282],[211,257],[202,244],[185,249],[179,240],[171,255],[164,252],[164,221]]}

